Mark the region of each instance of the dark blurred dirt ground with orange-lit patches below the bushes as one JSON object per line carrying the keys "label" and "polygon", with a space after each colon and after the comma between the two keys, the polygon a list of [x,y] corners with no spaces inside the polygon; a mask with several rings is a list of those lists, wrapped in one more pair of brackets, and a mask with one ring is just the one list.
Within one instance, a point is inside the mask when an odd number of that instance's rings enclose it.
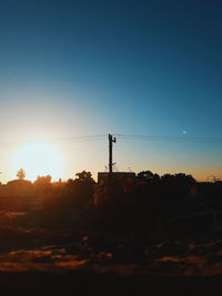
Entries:
{"label": "dark blurred dirt ground with orange-lit patches below the bushes", "polygon": [[80,233],[4,211],[0,239],[2,295],[222,295],[220,234]]}

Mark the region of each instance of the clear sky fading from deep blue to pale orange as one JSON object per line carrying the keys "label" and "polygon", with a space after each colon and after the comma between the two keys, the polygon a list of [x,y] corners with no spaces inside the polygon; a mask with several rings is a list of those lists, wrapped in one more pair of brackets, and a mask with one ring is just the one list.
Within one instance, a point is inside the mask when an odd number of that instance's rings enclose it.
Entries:
{"label": "clear sky fading from deep blue to pale orange", "polygon": [[[2,0],[0,181],[46,159],[37,149],[22,154],[30,141],[221,137],[221,14],[215,0]],[[53,149],[64,180],[82,170],[95,177],[108,164],[105,137]],[[119,139],[113,150],[119,171],[222,178],[219,144]]]}

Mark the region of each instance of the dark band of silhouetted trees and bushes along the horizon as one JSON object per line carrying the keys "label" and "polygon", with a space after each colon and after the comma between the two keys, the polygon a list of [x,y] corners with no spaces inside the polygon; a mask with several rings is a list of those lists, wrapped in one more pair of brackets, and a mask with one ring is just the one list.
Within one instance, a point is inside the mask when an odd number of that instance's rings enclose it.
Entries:
{"label": "dark band of silhouetted trees and bushes along the horizon", "polygon": [[[0,185],[1,208],[36,211],[38,223],[54,227],[161,233],[167,227],[173,228],[173,220],[178,217],[213,211],[220,214],[221,208],[220,182],[196,183],[191,175],[182,173],[160,176],[142,171],[130,178],[113,174],[100,183],[85,171],[58,182],[52,182],[50,175],[27,181],[22,169],[17,176],[18,180]],[[191,229],[198,224],[193,220]],[[181,229],[179,226],[178,231]]]}

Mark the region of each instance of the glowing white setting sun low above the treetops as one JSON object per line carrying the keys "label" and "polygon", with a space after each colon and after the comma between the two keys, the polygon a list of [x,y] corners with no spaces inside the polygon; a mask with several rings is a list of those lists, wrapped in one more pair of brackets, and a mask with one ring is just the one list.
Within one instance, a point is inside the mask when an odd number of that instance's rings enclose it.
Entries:
{"label": "glowing white setting sun low above the treetops", "polygon": [[19,147],[11,160],[11,173],[16,176],[19,169],[24,169],[27,178],[34,181],[38,175],[50,174],[53,180],[62,175],[63,157],[53,144],[33,142]]}

